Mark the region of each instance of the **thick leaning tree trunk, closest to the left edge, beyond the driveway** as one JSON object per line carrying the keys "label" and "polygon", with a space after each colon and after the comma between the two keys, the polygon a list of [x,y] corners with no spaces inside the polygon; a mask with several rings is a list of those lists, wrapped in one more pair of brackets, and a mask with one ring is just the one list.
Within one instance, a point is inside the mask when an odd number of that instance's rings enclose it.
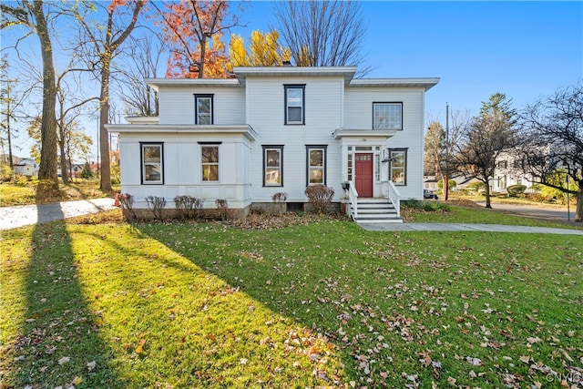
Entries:
{"label": "thick leaning tree trunk, closest to the left edge, beyond the driveway", "polygon": [[43,60],[43,117],[40,128],[41,149],[38,178],[46,180],[44,189],[58,190],[56,177],[56,83],[53,46],[46,26],[42,0],[35,0],[33,12],[36,18],[36,32],[40,40]]}

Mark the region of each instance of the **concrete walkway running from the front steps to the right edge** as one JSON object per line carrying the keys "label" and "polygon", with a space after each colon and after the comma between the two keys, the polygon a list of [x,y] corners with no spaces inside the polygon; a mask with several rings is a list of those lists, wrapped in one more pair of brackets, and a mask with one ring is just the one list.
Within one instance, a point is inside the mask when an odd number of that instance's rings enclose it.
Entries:
{"label": "concrete walkway running from the front steps to the right edge", "polygon": [[547,227],[506,226],[502,224],[465,223],[358,223],[369,231],[482,231],[550,233],[561,235],[583,235],[583,230],[552,229]]}

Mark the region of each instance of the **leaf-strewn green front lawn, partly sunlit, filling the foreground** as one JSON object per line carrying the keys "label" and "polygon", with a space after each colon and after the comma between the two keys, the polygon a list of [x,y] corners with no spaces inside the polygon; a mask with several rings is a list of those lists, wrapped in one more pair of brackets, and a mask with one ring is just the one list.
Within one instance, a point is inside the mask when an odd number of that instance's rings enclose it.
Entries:
{"label": "leaf-strewn green front lawn, partly sunlit, filling the foreground", "polygon": [[583,368],[578,236],[69,221],[0,250],[2,387],[561,387]]}

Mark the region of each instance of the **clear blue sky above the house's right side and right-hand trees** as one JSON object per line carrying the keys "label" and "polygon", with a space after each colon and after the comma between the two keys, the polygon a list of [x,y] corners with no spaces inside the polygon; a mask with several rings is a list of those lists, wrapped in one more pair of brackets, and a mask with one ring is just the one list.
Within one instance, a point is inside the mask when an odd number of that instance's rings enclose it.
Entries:
{"label": "clear blue sky above the house's right side and right-hand trees", "polygon": [[[363,1],[366,77],[440,77],[426,94],[426,118],[479,111],[502,92],[521,109],[583,79],[583,2]],[[270,2],[252,1],[243,17],[268,29]]]}

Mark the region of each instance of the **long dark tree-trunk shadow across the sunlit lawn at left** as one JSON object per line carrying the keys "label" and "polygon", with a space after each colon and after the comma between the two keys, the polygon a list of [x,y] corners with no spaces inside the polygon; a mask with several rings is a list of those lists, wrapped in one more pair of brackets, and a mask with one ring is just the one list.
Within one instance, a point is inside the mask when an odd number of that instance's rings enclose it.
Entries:
{"label": "long dark tree-trunk shadow across the sunlit lawn at left", "polygon": [[125,387],[109,365],[111,355],[83,296],[66,223],[37,224],[30,239],[23,269],[25,323],[15,340],[8,382],[14,387]]}

